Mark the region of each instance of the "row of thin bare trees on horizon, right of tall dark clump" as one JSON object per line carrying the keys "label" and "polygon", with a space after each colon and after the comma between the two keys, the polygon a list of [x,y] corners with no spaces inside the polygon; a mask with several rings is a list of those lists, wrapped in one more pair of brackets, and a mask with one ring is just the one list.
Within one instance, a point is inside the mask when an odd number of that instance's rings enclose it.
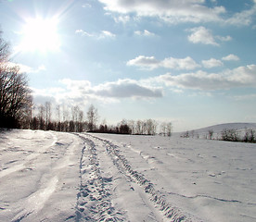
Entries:
{"label": "row of thin bare trees on horizon, right of tall dark clump", "polygon": [[[32,115],[32,113],[37,113]],[[84,120],[85,119],[85,120]],[[99,115],[94,105],[90,105],[86,115],[78,106],[55,105],[46,102],[45,105],[30,106],[27,115],[20,123],[21,129],[42,129],[69,132],[97,132],[134,135],[156,135],[171,136],[173,126],[171,122],[159,123],[154,119],[126,120],[122,119],[116,125],[108,125],[104,119],[97,124]]]}

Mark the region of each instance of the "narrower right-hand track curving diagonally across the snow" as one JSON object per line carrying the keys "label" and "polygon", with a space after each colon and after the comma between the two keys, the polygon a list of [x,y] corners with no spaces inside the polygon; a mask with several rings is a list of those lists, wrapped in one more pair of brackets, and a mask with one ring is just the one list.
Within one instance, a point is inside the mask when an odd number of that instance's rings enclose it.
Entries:
{"label": "narrower right-hand track curving diagonally across the snow", "polygon": [[146,179],[142,173],[137,172],[132,168],[127,159],[121,154],[119,146],[109,142],[108,140],[92,135],[90,136],[105,144],[108,154],[112,157],[113,164],[119,168],[122,174],[134,180],[134,182],[137,183],[143,189],[143,191],[149,195],[149,200],[154,203],[155,207],[163,213],[167,220],[174,222],[201,221],[196,216],[191,216],[188,213],[183,212],[181,209],[173,206],[173,204],[167,203],[160,191],[157,191],[153,184]]}

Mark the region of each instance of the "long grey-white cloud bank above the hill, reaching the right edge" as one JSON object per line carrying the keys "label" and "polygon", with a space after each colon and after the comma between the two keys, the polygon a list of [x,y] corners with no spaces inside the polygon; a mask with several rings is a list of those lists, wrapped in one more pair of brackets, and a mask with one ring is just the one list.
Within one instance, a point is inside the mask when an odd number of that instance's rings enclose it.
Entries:
{"label": "long grey-white cloud bank above the hill, reaching the right edge", "polygon": [[155,81],[167,86],[202,91],[214,91],[237,87],[255,87],[256,65],[227,69],[220,73],[208,73],[202,70],[180,75],[170,73],[156,77]]}

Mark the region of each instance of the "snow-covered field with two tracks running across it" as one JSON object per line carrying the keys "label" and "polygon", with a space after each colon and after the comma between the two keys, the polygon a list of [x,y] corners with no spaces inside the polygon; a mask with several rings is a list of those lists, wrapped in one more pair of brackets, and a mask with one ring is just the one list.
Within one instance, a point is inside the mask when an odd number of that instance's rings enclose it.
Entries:
{"label": "snow-covered field with two tracks running across it", "polygon": [[256,144],[0,132],[0,221],[256,221]]}

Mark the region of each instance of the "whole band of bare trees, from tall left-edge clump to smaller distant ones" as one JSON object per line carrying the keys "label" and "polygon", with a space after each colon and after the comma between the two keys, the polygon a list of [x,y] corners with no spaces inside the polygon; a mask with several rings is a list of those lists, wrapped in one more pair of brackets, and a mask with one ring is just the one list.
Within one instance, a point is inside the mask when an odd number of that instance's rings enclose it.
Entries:
{"label": "whole band of bare trees, from tall left-edge clump to smaller distant ones", "polygon": [[[0,31],[0,128],[42,129],[69,132],[103,132],[121,134],[172,135],[172,123],[158,123],[156,120],[125,120],[116,126],[108,126],[106,120],[98,122],[97,109],[91,105],[86,113],[79,106],[34,105],[32,91],[25,73],[19,66],[11,66],[10,45],[2,38]],[[84,120],[85,119],[85,120]]]}

